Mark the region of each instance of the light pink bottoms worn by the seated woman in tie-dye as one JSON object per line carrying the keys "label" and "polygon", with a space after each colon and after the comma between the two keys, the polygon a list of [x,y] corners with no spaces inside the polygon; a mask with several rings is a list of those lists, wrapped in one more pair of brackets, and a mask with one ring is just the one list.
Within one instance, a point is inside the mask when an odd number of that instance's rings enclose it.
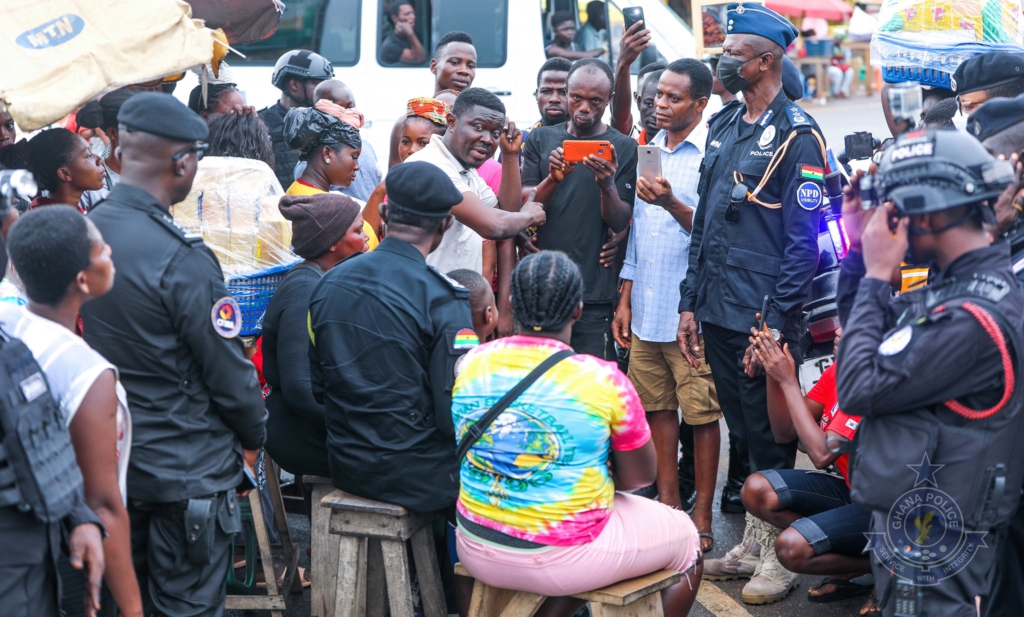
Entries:
{"label": "light pink bottoms worn by the seated woman in tie-dye", "polygon": [[597,538],[575,546],[508,548],[457,532],[459,561],[473,578],[503,589],[572,596],[657,570],[685,572],[700,555],[686,513],[615,493],[615,505]]}

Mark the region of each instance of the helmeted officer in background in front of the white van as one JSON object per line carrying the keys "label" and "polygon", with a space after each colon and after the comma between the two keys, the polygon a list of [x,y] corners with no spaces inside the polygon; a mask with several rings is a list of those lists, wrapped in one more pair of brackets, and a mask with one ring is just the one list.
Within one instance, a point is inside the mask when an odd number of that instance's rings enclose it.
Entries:
{"label": "helmeted officer in background in front of the white van", "polygon": [[299,152],[285,142],[285,116],[293,107],[311,107],[316,85],[334,77],[331,62],[318,53],[295,49],[278,58],[270,82],[281,90],[281,100],[257,112],[266,124],[273,145],[273,172],[281,185],[288,189],[295,181],[295,166]]}

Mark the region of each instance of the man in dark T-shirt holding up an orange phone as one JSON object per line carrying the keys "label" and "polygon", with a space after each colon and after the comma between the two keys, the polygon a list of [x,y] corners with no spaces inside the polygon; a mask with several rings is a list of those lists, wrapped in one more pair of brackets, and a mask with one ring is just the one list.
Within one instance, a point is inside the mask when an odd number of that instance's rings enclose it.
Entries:
{"label": "man in dark T-shirt holding up an orange phone", "polygon": [[608,231],[629,225],[636,196],[637,143],[601,121],[611,100],[611,68],[578,60],[569,72],[569,121],[534,129],[524,145],[523,189],[536,187],[548,220],[537,247],[562,251],[584,277],[583,318],[572,327],[572,348],[615,358],[611,318],[618,297],[616,274],[600,263]]}

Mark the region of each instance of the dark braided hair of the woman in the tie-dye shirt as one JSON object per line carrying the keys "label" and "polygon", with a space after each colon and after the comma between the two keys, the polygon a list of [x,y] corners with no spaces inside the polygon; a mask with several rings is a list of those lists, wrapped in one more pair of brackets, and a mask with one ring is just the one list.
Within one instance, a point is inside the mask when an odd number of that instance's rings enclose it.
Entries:
{"label": "dark braided hair of the woman in the tie-dye shirt", "polygon": [[512,271],[512,316],[522,328],[558,332],[583,300],[583,275],[561,251],[525,257]]}

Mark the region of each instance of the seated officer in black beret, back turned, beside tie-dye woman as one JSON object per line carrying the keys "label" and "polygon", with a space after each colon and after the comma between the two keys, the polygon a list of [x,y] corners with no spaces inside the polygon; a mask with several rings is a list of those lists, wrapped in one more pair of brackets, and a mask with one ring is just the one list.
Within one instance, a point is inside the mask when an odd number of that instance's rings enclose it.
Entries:
{"label": "seated officer in black beret, back turned, beside tie-dye woman", "polygon": [[478,343],[469,292],[426,263],[462,194],[426,163],[386,182],[387,237],[325,274],[309,302],[313,396],[334,485],[429,513],[458,494],[452,388]]}

